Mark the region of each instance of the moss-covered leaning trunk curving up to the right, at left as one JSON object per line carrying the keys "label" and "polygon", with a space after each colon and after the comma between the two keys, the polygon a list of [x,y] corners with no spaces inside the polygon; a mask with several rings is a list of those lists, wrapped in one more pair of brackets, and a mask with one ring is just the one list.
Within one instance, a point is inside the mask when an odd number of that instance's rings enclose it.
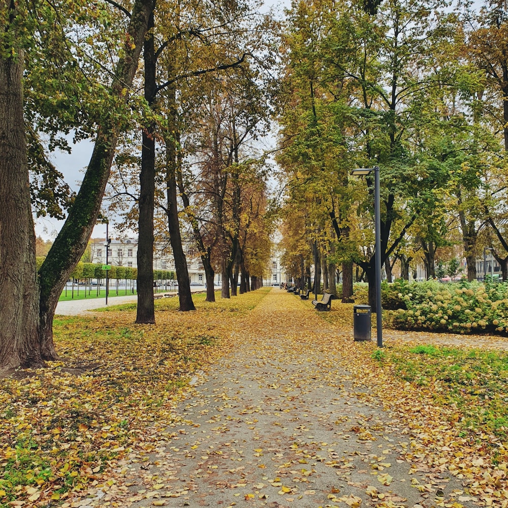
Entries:
{"label": "moss-covered leaning trunk curving up to the right, at left", "polygon": [[[123,55],[118,59],[111,84],[111,97],[117,101],[118,107],[123,107],[129,98],[129,94],[125,94],[124,90],[132,84],[138,69],[148,17],[153,8],[154,0],[136,0],[134,3],[131,20],[124,36]],[[39,318],[43,358],[55,357],[53,316],[56,304],[67,279],[86,249],[99,217],[121,127],[118,116],[106,111],[74,204],[39,270],[41,286]]]}

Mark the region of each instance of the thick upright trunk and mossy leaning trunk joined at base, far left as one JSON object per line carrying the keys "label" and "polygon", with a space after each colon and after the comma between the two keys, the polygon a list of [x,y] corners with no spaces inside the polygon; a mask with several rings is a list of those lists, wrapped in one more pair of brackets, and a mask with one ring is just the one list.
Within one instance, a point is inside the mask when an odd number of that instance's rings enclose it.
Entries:
{"label": "thick upright trunk and mossy leaning trunk joined at base, far left", "polygon": [[[33,41],[23,38],[26,34],[44,33],[44,28],[41,31],[26,29],[28,25],[34,28],[34,23],[37,26],[39,19],[44,18],[45,22],[48,19],[61,20],[60,12],[54,11],[53,6],[44,4],[43,7],[44,9],[37,2],[29,6],[23,2],[8,2],[2,4],[0,10],[3,28],[0,53],[0,67],[4,73],[2,87],[9,84],[8,88],[2,88],[0,107],[6,112],[3,118],[12,121],[2,126],[2,139],[10,139],[11,142],[0,144],[0,159],[6,161],[0,169],[3,182],[0,195],[0,256],[2,261],[9,257],[8,263],[0,263],[0,311],[3,316],[7,316],[0,323],[1,369],[40,366],[44,360],[54,360],[57,357],[52,335],[54,311],[61,290],[81,258],[99,216],[116,142],[124,125],[124,106],[129,97],[126,92],[138,67],[153,2],[137,0],[133,5],[131,19],[123,36],[122,54],[117,60],[111,83],[107,86],[110,103],[107,106],[103,104],[96,143],[83,183],[37,278],[35,232],[27,185],[22,94],[23,48]],[[69,53],[67,57],[76,62],[75,55]],[[21,155],[23,152],[24,156]],[[12,177],[8,177],[9,172]],[[26,186],[25,192],[20,192],[20,184]],[[14,208],[13,196],[18,198]],[[18,211],[15,220],[11,210]],[[12,224],[16,222],[20,227],[14,231]],[[15,244],[22,246],[22,249],[15,247]],[[20,288],[24,288],[21,293]],[[20,298],[15,301],[11,295]]]}

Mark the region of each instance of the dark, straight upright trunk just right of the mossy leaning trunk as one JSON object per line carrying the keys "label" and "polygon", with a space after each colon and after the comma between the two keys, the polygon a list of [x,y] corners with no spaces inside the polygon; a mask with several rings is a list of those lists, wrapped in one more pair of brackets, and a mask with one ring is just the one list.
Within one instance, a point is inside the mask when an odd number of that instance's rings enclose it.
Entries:
{"label": "dark, straight upright trunk just right of the mossy leaning trunk", "polygon": [[[153,13],[148,18],[148,36],[144,42],[145,100],[151,107],[156,95]],[[143,128],[141,171],[139,174],[138,217],[138,307],[136,323],[155,323],[153,306],[153,208],[155,195],[155,125],[149,121]]]}

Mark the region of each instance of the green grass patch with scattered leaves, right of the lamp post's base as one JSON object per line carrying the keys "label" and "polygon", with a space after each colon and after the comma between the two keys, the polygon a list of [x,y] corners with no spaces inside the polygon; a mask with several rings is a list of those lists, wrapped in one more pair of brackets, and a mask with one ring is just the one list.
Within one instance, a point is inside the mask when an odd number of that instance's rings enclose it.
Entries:
{"label": "green grass patch with scattered leaves, right of the lamp post's base", "polygon": [[508,353],[477,349],[398,347],[374,359],[400,379],[431,386],[436,404],[455,404],[457,425],[468,433],[508,436]]}

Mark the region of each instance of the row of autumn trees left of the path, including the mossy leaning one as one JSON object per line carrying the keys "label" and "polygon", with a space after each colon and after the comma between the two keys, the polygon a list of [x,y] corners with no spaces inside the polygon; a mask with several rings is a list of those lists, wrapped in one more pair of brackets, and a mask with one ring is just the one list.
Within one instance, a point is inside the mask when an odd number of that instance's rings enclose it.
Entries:
{"label": "row of autumn trees left of the path, including the mossy leaning one", "polygon": [[[183,242],[201,256],[207,300],[216,269],[223,297],[239,272],[241,291],[257,287],[269,227],[253,142],[267,126],[273,21],[226,0],[18,0],[0,23],[0,370],[57,358],[58,297],[108,181],[139,233],[137,322],[154,322],[154,235],[171,244],[180,310],[194,309]],[[94,140],[75,195],[47,155],[70,152],[70,137]],[[33,209],[66,217],[39,269]]]}

